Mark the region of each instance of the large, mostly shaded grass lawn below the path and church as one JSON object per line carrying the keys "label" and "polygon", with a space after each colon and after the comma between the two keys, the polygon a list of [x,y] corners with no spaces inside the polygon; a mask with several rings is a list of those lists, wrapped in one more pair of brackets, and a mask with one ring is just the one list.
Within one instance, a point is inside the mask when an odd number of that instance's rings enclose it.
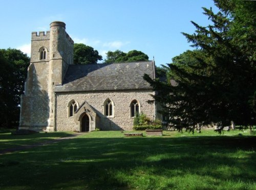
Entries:
{"label": "large, mostly shaded grass lawn below the path and church", "polygon": [[256,189],[255,149],[239,130],[90,132],[0,155],[0,189]]}

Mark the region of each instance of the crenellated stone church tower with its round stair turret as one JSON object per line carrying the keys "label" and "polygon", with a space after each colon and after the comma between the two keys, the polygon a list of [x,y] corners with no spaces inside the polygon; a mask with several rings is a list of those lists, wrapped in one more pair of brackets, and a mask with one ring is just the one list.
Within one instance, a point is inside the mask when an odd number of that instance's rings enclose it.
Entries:
{"label": "crenellated stone church tower with its round stair turret", "polygon": [[64,22],[52,22],[46,33],[32,32],[19,129],[54,130],[54,88],[62,84],[68,66],[73,64],[73,46]]}

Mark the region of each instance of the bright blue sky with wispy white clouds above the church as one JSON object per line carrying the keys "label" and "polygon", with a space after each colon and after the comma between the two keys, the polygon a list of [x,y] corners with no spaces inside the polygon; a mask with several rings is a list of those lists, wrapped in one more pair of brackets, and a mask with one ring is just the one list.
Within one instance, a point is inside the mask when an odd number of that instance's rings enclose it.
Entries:
{"label": "bright blue sky with wispy white clouds above the church", "polygon": [[0,0],[0,49],[20,49],[30,56],[31,32],[49,31],[52,21],[66,23],[75,43],[108,51],[142,51],[157,65],[191,49],[181,32],[192,34],[191,20],[208,26],[202,7],[212,0]]}

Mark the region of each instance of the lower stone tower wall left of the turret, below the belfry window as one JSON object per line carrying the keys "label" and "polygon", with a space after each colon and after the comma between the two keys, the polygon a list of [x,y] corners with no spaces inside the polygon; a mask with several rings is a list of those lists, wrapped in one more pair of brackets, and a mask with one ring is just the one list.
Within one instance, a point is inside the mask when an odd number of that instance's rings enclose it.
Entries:
{"label": "lower stone tower wall left of the turret, below the belfry window", "polygon": [[[46,128],[49,118],[48,63],[31,63],[28,69],[25,94],[22,96],[20,126]],[[22,128],[20,128],[22,129]]]}

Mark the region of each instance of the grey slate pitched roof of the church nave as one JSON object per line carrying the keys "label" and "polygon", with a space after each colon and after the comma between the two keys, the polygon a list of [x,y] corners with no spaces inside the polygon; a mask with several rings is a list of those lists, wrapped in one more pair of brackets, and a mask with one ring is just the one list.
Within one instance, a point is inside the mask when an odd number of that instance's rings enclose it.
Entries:
{"label": "grey slate pitched roof of the church nave", "polygon": [[144,79],[154,78],[154,62],[69,65],[62,85],[55,92],[152,89]]}

